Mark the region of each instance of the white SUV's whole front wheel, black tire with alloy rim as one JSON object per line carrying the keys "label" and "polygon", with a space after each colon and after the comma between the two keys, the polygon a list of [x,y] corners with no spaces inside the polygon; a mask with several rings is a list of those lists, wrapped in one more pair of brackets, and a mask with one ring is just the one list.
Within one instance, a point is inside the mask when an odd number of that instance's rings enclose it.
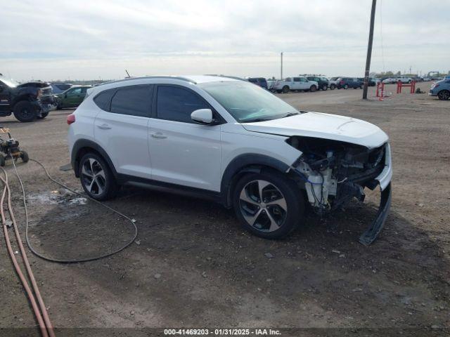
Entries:
{"label": "white SUV's whole front wheel, black tire with alloy rim", "polygon": [[252,173],[236,184],[233,208],[245,230],[279,239],[299,225],[304,199],[297,185],[281,173]]}

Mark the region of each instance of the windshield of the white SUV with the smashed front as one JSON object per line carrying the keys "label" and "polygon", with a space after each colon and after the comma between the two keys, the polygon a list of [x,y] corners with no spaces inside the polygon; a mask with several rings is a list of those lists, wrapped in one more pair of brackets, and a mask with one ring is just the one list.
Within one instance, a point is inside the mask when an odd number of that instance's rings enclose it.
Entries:
{"label": "windshield of the white SUV with the smashed front", "polygon": [[299,112],[276,95],[245,81],[199,84],[240,123],[269,121]]}

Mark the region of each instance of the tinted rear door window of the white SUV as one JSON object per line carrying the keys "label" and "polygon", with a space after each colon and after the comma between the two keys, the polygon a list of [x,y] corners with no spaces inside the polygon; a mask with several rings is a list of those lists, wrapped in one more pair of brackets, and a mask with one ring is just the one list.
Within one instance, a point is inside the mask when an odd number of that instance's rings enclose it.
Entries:
{"label": "tinted rear door window of the white SUV", "polygon": [[118,88],[111,100],[110,112],[150,117],[152,86],[124,86]]}

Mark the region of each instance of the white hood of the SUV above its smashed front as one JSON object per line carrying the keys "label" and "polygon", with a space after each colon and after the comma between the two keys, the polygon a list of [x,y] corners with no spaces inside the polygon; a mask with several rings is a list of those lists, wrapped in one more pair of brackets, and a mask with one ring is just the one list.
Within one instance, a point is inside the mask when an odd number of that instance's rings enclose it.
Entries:
{"label": "white hood of the SUV above its smashed front", "polygon": [[340,140],[368,148],[383,145],[389,139],[378,126],[367,121],[321,112],[307,112],[271,121],[243,123],[242,126],[253,132]]}

